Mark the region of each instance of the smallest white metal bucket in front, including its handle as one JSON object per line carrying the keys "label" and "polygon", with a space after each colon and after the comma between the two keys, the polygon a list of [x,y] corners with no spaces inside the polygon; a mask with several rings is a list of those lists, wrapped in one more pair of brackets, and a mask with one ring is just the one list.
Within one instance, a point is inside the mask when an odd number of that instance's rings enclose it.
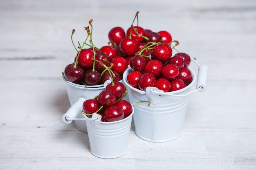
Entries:
{"label": "smallest white metal bucket in front, including its handle", "polygon": [[92,155],[112,159],[126,154],[134,108],[128,117],[119,121],[101,122],[101,115],[97,113],[94,113],[92,118],[85,115],[81,119],[73,118],[82,110],[83,101],[85,101],[84,98],[79,98],[63,115],[63,121],[67,124],[70,124],[72,120],[86,121]]}

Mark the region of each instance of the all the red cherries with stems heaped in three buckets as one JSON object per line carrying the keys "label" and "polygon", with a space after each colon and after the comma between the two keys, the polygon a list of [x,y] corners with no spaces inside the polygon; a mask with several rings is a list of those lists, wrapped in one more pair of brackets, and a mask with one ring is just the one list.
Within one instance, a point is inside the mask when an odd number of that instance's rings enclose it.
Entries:
{"label": "all the red cherries with stems heaped in three buckets", "polygon": [[[164,92],[177,91],[193,80],[188,68],[190,56],[180,52],[173,55],[178,42],[172,41],[168,31],[154,32],[133,25],[125,31],[117,26],[108,33],[109,44],[97,48],[92,44],[89,26],[85,30],[88,37],[82,46],[79,44],[79,50],[74,46],[77,54],[74,63],[64,69],[65,79],[85,87],[112,81],[97,97],[83,103],[83,114],[87,116],[98,113],[102,114],[101,121],[117,121],[132,113],[132,105],[123,99],[127,90],[120,82],[128,66],[133,69],[127,76],[128,84],[142,91],[148,86]],[[89,37],[90,44],[87,44]],[[84,45],[88,48],[83,48]]]}

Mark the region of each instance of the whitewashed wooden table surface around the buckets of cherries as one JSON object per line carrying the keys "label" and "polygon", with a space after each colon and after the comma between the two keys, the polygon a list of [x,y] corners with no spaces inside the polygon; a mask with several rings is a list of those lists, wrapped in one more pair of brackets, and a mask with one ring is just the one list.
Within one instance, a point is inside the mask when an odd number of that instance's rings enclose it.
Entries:
{"label": "whitewashed wooden table surface around the buckets of cherries", "polygon": [[[96,46],[132,24],[169,31],[177,49],[209,67],[193,93],[181,137],[144,141],[132,126],[128,152],[90,153],[87,133],[65,124],[70,108],[61,72],[93,19]],[[1,170],[255,170],[255,0],[0,0]]]}

